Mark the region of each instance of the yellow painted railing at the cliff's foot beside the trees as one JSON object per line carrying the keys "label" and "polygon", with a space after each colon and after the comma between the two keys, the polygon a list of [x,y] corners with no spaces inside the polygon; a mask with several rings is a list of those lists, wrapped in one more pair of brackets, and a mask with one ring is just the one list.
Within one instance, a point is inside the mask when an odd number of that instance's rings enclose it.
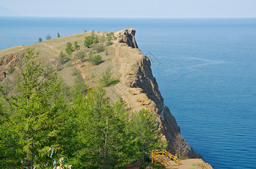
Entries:
{"label": "yellow painted railing at the cliff's foot beside the trees", "polygon": [[[165,167],[169,166],[178,166],[178,157],[175,155],[170,154],[167,150],[159,149],[159,150],[152,150],[152,163],[157,161],[163,164]],[[176,164],[168,164],[168,161],[173,161]]]}

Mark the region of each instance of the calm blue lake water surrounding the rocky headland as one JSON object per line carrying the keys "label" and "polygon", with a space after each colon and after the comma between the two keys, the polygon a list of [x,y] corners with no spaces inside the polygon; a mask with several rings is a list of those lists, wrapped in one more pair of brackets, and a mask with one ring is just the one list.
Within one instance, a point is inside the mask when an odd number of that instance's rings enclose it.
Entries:
{"label": "calm blue lake water surrounding the rocky headland", "polygon": [[0,50],[135,28],[184,139],[215,168],[256,166],[256,19],[0,17]]}

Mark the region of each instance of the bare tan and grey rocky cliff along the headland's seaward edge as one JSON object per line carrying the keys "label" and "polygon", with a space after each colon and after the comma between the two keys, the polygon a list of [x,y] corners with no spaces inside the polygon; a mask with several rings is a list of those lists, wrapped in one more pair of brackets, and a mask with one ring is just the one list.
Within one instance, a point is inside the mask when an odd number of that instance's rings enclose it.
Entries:
{"label": "bare tan and grey rocky cliff along the headland's seaward edge", "polygon": [[[157,123],[159,124],[159,127],[161,127],[163,137],[169,141],[169,151],[175,154],[175,152],[173,152],[173,142],[175,135],[180,133],[180,127],[178,127],[176,119],[170,113],[169,108],[165,106],[156,78],[153,77],[152,74],[150,59],[138,50],[134,35],[135,30],[132,28],[123,30],[114,44],[116,46],[116,57],[119,55],[118,61],[121,65],[123,64],[120,68],[125,69],[125,71],[119,70],[122,72],[121,74],[123,77],[121,78],[121,83],[125,84],[127,87],[126,91],[129,90],[129,88],[139,88],[141,92],[136,95],[136,98],[143,95],[151,100],[148,108],[156,114]],[[125,43],[125,45],[122,45],[122,43]],[[126,58],[123,58],[123,52],[125,52]],[[130,63],[129,65],[131,66],[129,67],[127,63]],[[127,75],[127,72],[131,70],[135,73]],[[122,88],[122,90],[124,89],[125,87]],[[142,106],[138,105],[138,101],[135,100],[134,95],[131,95],[128,92],[122,92],[122,96],[134,110],[142,108]],[[189,144],[187,145],[190,150],[190,158],[202,158],[200,154],[194,152]]]}

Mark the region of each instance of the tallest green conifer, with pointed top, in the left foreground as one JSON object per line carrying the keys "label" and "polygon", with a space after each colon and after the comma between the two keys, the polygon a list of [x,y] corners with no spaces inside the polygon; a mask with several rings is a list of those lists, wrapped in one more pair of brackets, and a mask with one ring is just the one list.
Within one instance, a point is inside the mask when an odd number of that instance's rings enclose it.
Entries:
{"label": "tallest green conifer, with pointed top, in the left foreground", "polygon": [[[45,166],[52,159],[49,148],[58,149],[58,134],[62,130],[62,118],[66,113],[65,102],[56,95],[60,84],[57,75],[45,71],[35,59],[39,52],[28,49],[21,56],[18,84],[19,94],[6,97],[11,106],[10,130],[15,139],[16,167]],[[18,159],[12,161],[15,163]]]}

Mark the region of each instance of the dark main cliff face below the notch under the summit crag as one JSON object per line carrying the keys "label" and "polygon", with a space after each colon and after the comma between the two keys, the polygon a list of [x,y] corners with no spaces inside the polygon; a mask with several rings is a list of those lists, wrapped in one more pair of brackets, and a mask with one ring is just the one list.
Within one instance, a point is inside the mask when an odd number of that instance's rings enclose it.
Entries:
{"label": "dark main cliff face below the notch under the summit crag", "polygon": [[174,135],[180,132],[176,119],[170,114],[167,106],[164,105],[164,99],[160,94],[156,78],[153,77],[150,60],[145,57],[138,64],[138,73],[133,77],[130,87],[142,88],[143,93],[146,93],[148,98],[152,100],[150,105],[151,110],[160,115],[158,123],[160,124],[163,135],[169,140],[171,147]]}

